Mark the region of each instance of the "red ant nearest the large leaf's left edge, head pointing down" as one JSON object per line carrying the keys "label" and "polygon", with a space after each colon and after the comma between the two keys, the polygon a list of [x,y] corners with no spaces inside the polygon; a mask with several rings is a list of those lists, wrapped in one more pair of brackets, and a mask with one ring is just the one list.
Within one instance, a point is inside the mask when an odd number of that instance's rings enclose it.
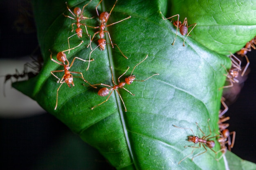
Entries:
{"label": "red ant nearest the large leaf's left edge, head pointing down", "polygon": [[[79,57],[74,57],[74,59],[72,60],[72,62],[71,62],[71,64],[70,64],[70,62],[67,60],[66,54],[64,53],[64,52],[66,52],[66,51],[70,51],[70,50],[75,49],[76,47],[79,47],[82,43],[83,43],[83,41],[81,41],[81,43],[80,43],[78,46],[75,46],[75,47],[72,48],[72,49],[67,49],[67,50],[64,50],[64,51],[59,52],[59,53],[57,54],[56,58],[57,58],[57,60],[58,60],[59,62],[61,62],[61,63],[59,63],[58,61],[56,61],[56,60],[54,60],[54,59],[52,58],[52,52],[49,50],[49,51],[51,52],[51,55],[50,55],[51,60],[52,60],[53,62],[55,62],[55,63],[61,65],[61,66],[64,66],[64,70],[51,71],[51,74],[52,74],[54,77],[56,77],[56,78],[58,79],[57,83],[61,83],[61,85],[62,85],[63,83],[66,83],[67,86],[69,86],[69,87],[75,86],[75,85],[74,85],[74,82],[73,82],[73,76],[72,76],[72,74],[80,74],[81,76],[78,76],[78,77],[80,77],[81,79],[83,79],[83,81],[85,81],[87,84],[89,84],[90,86],[92,86],[87,80],[85,80],[85,79],[83,78],[83,74],[82,74],[81,72],[69,71],[69,69],[72,67],[72,65],[74,64],[74,61],[75,61],[76,59],[82,60],[83,62],[89,62],[89,61],[83,60],[83,59],[81,59],[81,58],[79,58]],[[93,61],[93,59],[92,59],[91,61]],[[66,64],[65,62],[67,62],[67,64]],[[56,73],[56,72],[63,72],[63,71],[64,71],[64,75],[62,76],[61,79],[60,79],[59,77],[57,77],[56,75],[54,75],[54,73]],[[59,89],[61,88],[61,85],[60,85],[60,86],[58,87],[58,89],[57,89],[56,105],[55,105],[54,110],[56,110],[57,105],[58,105],[58,91],[59,91]],[[97,88],[97,87],[94,87],[94,86],[92,86],[92,87],[93,87],[93,88]]]}

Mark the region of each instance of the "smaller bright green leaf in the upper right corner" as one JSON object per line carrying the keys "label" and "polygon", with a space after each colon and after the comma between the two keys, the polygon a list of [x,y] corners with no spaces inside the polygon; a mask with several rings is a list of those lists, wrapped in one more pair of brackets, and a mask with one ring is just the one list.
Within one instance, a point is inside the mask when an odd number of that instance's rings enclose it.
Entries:
{"label": "smaller bright green leaf in the upper right corner", "polygon": [[197,23],[192,38],[220,54],[242,49],[256,35],[256,0],[173,0],[171,14]]}

